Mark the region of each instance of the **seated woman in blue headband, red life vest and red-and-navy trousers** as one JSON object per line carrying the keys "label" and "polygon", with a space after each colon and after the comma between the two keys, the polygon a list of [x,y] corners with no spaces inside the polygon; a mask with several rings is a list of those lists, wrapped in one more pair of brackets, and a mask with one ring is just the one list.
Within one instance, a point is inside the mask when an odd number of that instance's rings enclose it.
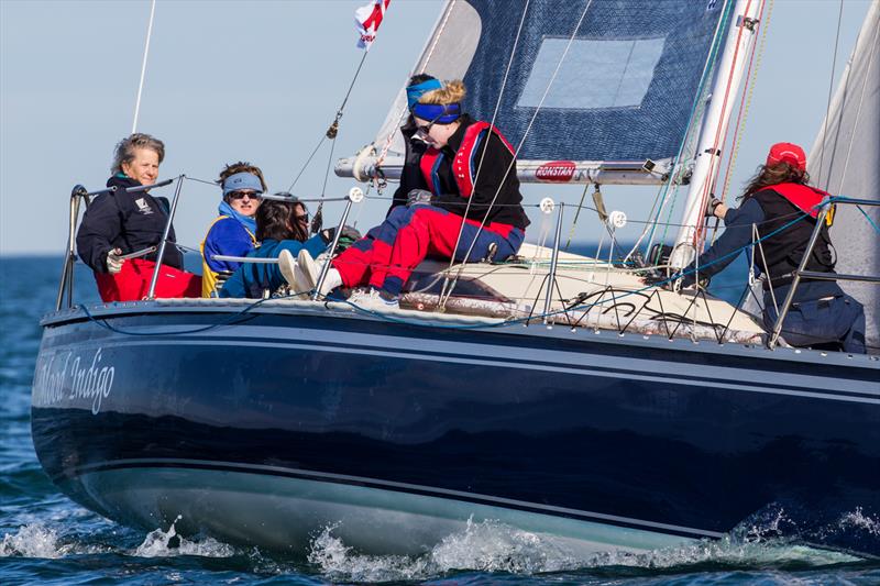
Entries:
{"label": "seated woman in blue headband, red life vest and red-and-navy trousers", "polygon": [[[428,147],[418,162],[406,162],[405,172],[417,166],[428,189],[409,191],[406,207],[392,209],[381,225],[340,254],[322,295],[339,286],[367,285],[350,301],[393,308],[427,256],[476,262],[517,253],[529,220],[514,148],[497,129],[462,112],[464,95],[464,84],[451,81],[413,106],[415,135]],[[300,253],[292,268],[298,290],[315,287],[318,270],[311,256]]]}

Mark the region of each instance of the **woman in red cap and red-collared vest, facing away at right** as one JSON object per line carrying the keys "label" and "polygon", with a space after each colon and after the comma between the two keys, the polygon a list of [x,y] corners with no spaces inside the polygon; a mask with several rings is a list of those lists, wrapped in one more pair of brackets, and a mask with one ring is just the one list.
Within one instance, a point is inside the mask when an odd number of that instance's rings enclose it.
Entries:
{"label": "woman in red cap and red-collared vest, facing away at right", "polygon": [[[726,230],[697,263],[683,270],[682,286],[694,284],[695,266],[700,267],[701,277],[723,270],[738,256],[736,251],[751,243],[756,226],[762,239],[762,254],[755,254],[754,263],[763,277],[763,322],[771,330],[778,317],[777,303],[785,299],[816,226],[820,203],[828,197],[827,192],[809,186],[809,181],[803,148],[792,143],[774,144],[741,196],[738,209],[727,208],[715,199],[710,202],[706,214],[724,220]],[[794,221],[800,217],[804,217],[802,221]],[[806,270],[834,273],[833,248],[826,223]],[[865,310],[836,281],[803,278],[785,316],[782,336],[792,346],[864,354]]]}

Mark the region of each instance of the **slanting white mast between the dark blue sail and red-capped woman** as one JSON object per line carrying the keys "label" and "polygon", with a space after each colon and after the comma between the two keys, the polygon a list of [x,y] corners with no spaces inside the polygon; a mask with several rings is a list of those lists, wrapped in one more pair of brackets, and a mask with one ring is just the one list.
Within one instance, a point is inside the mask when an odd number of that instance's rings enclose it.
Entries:
{"label": "slanting white mast between the dark blue sail and red-capped woman", "polygon": [[734,110],[736,93],[748,63],[749,47],[757,30],[757,14],[763,0],[736,0],[734,25],[727,33],[710,103],[697,140],[696,159],[691,176],[688,200],[675,237],[670,263],[675,268],[688,266],[696,255],[703,213],[714,191],[715,174],[722,159],[722,136]]}

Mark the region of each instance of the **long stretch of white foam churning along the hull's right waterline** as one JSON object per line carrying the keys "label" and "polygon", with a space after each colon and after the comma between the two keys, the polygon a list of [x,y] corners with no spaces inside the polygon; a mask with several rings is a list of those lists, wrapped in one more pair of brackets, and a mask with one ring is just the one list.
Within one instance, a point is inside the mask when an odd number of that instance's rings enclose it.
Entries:
{"label": "long stretch of white foam churning along the hull's right waterline", "polygon": [[[541,574],[608,566],[644,568],[685,567],[718,563],[746,567],[791,563],[823,566],[858,561],[839,552],[792,543],[780,538],[784,511],[738,528],[721,540],[700,540],[676,548],[644,553],[609,550],[578,557],[553,538],[522,531],[498,521],[469,521],[418,557],[365,555],[338,537],[338,526],[326,528],[311,542],[308,561],[331,581],[389,582],[426,579],[452,571]],[[871,521],[869,519],[869,521]],[[853,522],[865,523],[861,518]],[[876,526],[872,526],[876,527]]]}

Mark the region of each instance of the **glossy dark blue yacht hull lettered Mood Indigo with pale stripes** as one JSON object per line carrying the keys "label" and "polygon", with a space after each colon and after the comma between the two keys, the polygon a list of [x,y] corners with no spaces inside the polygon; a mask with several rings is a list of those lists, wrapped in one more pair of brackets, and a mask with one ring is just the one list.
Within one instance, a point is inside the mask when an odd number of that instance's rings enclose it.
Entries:
{"label": "glossy dark blue yacht hull lettered Mood Indigo with pale stripes", "polygon": [[[454,502],[438,517],[504,511],[617,537],[719,537],[781,507],[806,540],[880,554],[870,531],[831,530],[857,511],[880,516],[875,358],[302,306],[196,332],[237,309],[145,307],[105,316],[127,333],[81,314],[47,321],[34,383],[44,468],[121,522],[153,529],[187,498],[189,530],[265,542],[207,519],[226,515],[219,504],[196,512],[209,495],[182,496],[187,483],[252,477],[276,493],[307,486],[316,507],[330,487],[367,494],[362,506],[397,495],[429,517]],[[162,482],[133,504],[123,493],[138,471]]]}

